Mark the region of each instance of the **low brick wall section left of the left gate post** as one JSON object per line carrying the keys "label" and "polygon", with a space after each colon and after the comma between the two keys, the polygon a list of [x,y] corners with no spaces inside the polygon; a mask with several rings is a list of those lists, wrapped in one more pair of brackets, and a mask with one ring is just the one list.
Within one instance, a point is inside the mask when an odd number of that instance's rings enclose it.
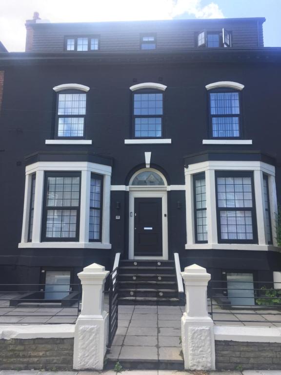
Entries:
{"label": "low brick wall section left of the left gate post", "polygon": [[73,338],[0,339],[1,370],[72,370]]}

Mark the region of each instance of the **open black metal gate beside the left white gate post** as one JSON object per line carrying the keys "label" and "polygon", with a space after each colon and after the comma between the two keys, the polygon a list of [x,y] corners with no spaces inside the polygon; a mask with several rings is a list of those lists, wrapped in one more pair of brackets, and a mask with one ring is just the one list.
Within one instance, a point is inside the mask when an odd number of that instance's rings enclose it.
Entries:
{"label": "open black metal gate beside the left white gate post", "polygon": [[109,274],[109,312],[108,312],[108,344],[111,348],[118,328],[118,292],[119,292],[119,269],[116,267]]}

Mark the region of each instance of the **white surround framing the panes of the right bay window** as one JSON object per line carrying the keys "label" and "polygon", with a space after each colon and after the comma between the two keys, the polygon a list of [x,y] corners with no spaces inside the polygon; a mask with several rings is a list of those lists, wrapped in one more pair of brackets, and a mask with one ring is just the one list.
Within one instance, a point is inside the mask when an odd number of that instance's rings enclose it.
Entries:
{"label": "white surround framing the panes of the right bay window", "polygon": [[[277,197],[275,185],[275,167],[259,161],[206,161],[189,165],[185,169],[186,189],[186,231],[185,249],[222,249],[222,250],[273,250],[280,251],[276,243],[275,217]],[[224,244],[218,243],[217,208],[215,171],[251,171],[254,174],[258,244]],[[198,244],[195,241],[193,174],[205,172],[206,208],[208,225],[208,243]],[[268,175],[268,189],[271,213],[273,245],[266,243],[265,207],[263,201],[263,173]]]}

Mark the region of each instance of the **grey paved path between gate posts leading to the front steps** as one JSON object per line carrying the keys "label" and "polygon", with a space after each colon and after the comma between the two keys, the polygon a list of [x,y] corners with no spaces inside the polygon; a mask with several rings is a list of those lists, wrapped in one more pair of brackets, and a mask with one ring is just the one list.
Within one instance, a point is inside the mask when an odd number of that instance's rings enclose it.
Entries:
{"label": "grey paved path between gate posts leading to the front steps", "polygon": [[181,357],[180,306],[119,306],[116,336],[107,354],[111,361],[173,361]]}

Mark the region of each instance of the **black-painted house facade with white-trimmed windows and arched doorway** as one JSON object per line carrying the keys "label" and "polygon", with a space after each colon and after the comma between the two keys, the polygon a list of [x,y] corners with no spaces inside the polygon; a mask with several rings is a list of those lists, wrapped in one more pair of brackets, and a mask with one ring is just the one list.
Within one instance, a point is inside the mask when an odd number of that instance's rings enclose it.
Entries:
{"label": "black-painted house facade with white-trimmed windows and arched doorway", "polygon": [[36,18],[26,52],[0,53],[1,283],[75,281],[117,252],[280,281],[281,49],[264,19]]}

